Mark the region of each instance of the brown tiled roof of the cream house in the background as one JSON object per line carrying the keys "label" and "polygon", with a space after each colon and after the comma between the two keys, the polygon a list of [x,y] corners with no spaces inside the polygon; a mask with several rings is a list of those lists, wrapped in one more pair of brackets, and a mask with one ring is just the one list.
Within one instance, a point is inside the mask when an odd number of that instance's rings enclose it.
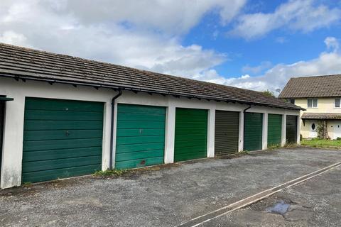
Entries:
{"label": "brown tiled roof of the cream house in the background", "polygon": [[341,74],[291,78],[279,98],[341,96]]}

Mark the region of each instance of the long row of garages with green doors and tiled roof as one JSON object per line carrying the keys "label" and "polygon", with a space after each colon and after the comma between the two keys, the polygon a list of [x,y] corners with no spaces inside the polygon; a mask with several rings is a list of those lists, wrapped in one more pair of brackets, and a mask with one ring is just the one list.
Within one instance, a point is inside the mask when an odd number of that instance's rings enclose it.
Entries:
{"label": "long row of garages with green doors and tiled roof", "polygon": [[299,143],[260,92],[0,44],[1,188]]}

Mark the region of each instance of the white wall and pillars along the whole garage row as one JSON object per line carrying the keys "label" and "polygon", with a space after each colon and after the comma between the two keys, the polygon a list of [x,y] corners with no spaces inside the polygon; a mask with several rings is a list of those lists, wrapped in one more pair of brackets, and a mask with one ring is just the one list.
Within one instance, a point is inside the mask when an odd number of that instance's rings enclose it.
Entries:
{"label": "white wall and pillars along the whole garage row", "polygon": [[[109,167],[110,157],[110,121],[111,121],[111,101],[117,94],[112,89],[94,89],[93,87],[73,87],[69,84],[53,84],[47,82],[27,81],[17,82],[14,79],[0,78],[0,94],[14,99],[6,105],[6,116],[4,123],[4,144],[1,165],[1,188],[18,186],[21,184],[21,162],[23,155],[23,121],[26,97],[39,97],[48,99],[69,99],[79,101],[99,101],[104,103],[104,128],[103,128],[103,151],[102,170]],[[117,129],[117,104],[141,104],[151,106],[166,106],[166,143],[165,143],[165,163],[172,163],[174,157],[174,135],[175,135],[175,109],[207,109],[207,157],[215,155],[215,111],[239,111],[239,151],[243,150],[244,135],[244,115],[243,111],[248,105],[233,104],[226,102],[207,101],[198,99],[188,99],[185,97],[176,98],[174,96],[162,96],[159,94],[146,94],[124,91],[115,101],[114,106],[114,144],[113,144],[113,164],[116,148]],[[266,149],[267,138],[267,114],[285,114],[299,116],[299,111],[278,109],[264,106],[251,106],[247,112],[257,112],[264,114],[263,149]],[[284,118],[284,117],[283,117]],[[299,118],[298,118],[299,119]],[[283,121],[284,122],[284,121]],[[285,124],[283,124],[285,126]],[[298,132],[300,130],[298,124]],[[283,128],[285,132],[285,128]],[[283,133],[282,133],[283,134]],[[282,144],[285,141],[282,137]],[[298,133],[299,141],[299,133]]]}

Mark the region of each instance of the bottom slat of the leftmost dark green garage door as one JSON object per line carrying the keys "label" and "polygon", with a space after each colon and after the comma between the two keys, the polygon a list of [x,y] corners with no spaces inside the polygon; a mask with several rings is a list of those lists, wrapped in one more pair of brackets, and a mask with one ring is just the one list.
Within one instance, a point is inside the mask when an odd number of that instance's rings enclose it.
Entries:
{"label": "bottom slat of the leftmost dark green garage door", "polygon": [[44,170],[37,172],[23,172],[23,182],[43,182],[51,179],[91,175],[99,170],[99,165],[87,165],[81,167],[62,168],[58,170]]}

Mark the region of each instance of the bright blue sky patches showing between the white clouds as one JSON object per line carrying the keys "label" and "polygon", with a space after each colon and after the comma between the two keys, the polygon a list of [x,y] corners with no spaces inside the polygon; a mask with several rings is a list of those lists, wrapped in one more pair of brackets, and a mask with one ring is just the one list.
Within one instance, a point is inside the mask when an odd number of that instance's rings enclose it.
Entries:
{"label": "bright blue sky patches showing between the white clouds", "polygon": [[[249,1],[245,7],[246,13],[273,13],[278,6],[288,1]],[[338,6],[341,1],[321,1],[325,6]],[[319,1],[315,1],[316,4]],[[228,60],[214,67],[224,77],[235,77],[247,73],[250,76],[264,74],[271,65],[280,63],[291,64],[301,60],[310,60],[325,51],[326,37],[341,37],[340,21],[331,23],[325,28],[318,28],[310,32],[291,31],[280,28],[271,31],[261,38],[245,40],[232,37],[227,31],[232,30],[233,23],[228,26],[220,24],[220,17],[215,12],[207,13],[202,21],[193,28],[183,39],[183,45],[200,43],[203,48],[219,50],[227,54]],[[215,36],[217,35],[217,36]],[[245,69],[245,66],[257,67],[266,62],[259,72]],[[244,69],[244,70],[243,70]],[[341,73],[341,71],[340,71]],[[295,75],[293,75],[295,76]],[[296,75],[301,76],[301,75]]]}

